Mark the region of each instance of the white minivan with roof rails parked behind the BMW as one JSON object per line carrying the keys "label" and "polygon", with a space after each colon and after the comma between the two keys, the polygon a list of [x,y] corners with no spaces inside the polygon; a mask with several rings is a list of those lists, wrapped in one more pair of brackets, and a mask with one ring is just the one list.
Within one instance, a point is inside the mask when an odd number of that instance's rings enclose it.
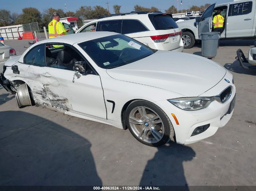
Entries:
{"label": "white minivan with roof rails parked behind the BMW", "polygon": [[171,14],[144,11],[115,14],[82,26],[76,33],[110,31],[124,34],[157,50],[182,52],[181,30]]}

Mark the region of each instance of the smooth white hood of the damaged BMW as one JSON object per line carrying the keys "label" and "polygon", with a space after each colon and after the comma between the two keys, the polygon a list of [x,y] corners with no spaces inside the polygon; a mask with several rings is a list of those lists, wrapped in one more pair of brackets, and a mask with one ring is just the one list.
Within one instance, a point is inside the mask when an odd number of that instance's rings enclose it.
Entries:
{"label": "smooth white hood of the damaged BMW", "polygon": [[194,97],[218,84],[226,69],[201,56],[158,50],[139,61],[107,69],[107,73],[117,80]]}

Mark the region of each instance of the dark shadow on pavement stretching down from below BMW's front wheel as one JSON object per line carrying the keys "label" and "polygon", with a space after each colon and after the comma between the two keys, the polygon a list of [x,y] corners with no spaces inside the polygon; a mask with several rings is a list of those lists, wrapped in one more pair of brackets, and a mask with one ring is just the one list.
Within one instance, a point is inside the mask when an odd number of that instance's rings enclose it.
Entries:
{"label": "dark shadow on pavement stretching down from below BMW's front wheel", "polygon": [[[185,186],[187,181],[182,163],[195,157],[192,148],[170,143],[158,148],[155,157],[148,161],[141,178],[141,186]],[[185,189],[187,188],[187,189]],[[188,187],[183,190],[189,190]]]}

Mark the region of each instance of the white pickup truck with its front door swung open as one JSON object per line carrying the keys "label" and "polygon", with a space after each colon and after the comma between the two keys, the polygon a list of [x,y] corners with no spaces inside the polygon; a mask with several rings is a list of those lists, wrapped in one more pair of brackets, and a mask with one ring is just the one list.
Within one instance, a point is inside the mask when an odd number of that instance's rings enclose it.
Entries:
{"label": "white pickup truck with its front door swung open", "polygon": [[218,9],[221,10],[221,15],[224,17],[221,38],[255,37],[255,7],[256,0],[235,1],[216,6],[212,4],[196,20],[178,23],[182,31],[184,48],[193,47],[195,40],[199,39],[200,33],[212,30],[212,19]]}

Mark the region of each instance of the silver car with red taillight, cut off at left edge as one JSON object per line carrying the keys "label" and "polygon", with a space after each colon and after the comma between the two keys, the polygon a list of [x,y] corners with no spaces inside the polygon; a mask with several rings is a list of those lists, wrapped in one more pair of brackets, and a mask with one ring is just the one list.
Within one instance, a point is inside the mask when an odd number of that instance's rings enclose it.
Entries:
{"label": "silver car with red taillight, cut off at left edge", "polygon": [[15,56],[15,49],[3,43],[0,43],[0,73],[3,72],[3,66],[5,65],[5,62]]}

